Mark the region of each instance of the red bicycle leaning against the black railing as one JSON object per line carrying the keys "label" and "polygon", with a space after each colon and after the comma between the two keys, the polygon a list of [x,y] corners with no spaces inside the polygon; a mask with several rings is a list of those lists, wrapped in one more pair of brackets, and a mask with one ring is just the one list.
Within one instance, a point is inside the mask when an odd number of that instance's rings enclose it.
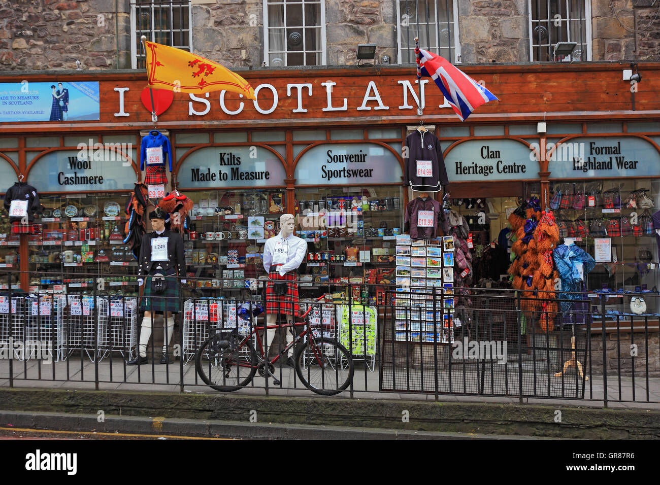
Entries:
{"label": "red bicycle leaning against the black railing", "polygon": [[[325,298],[317,298],[317,302]],[[320,395],[333,395],[344,391],[353,378],[353,359],[347,348],[334,339],[314,335],[310,326],[310,312],[320,316],[320,306],[310,308],[291,324],[257,327],[256,315],[249,315],[248,334],[240,334],[238,328],[211,329],[195,354],[195,368],[202,381],[217,391],[236,391],[248,385],[259,372],[264,378],[273,378],[275,385],[281,382],[275,376],[275,362],[294,347],[294,368],[305,387]],[[248,312],[249,313],[249,312]],[[305,327],[273,360],[267,360],[261,334],[267,329]],[[257,352],[252,344],[255,336]]]}

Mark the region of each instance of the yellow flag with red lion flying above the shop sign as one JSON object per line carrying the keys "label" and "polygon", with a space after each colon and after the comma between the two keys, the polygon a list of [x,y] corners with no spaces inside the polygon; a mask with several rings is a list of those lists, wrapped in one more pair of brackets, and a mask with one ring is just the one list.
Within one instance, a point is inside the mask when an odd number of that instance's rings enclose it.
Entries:
{"label": "yellow flag with red lion flying above the shop sign", "polygon": [[147,77],[152,88],[204,94],[230,91],[255,100],[249,82],[226,67],[182,49],[145,40]]}

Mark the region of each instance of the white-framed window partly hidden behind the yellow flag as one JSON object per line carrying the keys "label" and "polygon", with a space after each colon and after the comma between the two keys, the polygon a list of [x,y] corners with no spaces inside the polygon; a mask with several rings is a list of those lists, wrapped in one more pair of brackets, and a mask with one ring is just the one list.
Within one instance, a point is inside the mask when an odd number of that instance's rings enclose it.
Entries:
{"label": "white-framed window partly hidden behind the yellow flag", "polygon": [[190,0],[131,0],[131,63],[133,69],[145,67],[145,52],[140,38],[190,51]]}

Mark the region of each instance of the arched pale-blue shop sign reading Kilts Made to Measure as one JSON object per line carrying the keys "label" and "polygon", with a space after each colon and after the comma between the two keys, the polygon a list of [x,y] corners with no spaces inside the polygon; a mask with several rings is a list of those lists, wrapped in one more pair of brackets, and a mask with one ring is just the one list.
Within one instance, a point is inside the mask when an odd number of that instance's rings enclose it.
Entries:
{"label": "arched pale-blue shop sign reading Kilts Made to Measure", "polygon": [[284,178],[280,159],[261,146],[200,148],[183,160],[177,176],[182,189],[286,185]]}

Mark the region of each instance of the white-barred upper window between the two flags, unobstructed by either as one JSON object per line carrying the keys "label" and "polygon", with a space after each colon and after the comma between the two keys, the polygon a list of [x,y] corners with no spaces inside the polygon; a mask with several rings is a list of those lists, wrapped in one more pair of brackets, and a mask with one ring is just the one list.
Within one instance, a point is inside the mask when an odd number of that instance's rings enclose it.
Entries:
{"label": "white-barred upper window between the two flags, unobstructed by either", "polygon": [[269,66],[325,64],[325,0],[264,0],[263,28]]}

